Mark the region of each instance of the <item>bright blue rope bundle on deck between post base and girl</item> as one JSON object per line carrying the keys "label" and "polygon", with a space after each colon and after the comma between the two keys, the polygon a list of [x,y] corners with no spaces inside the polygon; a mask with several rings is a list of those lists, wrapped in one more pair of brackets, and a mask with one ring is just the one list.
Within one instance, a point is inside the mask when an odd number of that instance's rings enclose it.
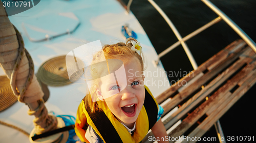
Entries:
{"label": "bright blue rope bundle on deck between post base and girl", "polygon": [[[52,112],[52,113],[53,113],[53,115],[55,115],[54,112]],[[70,125],[75,124],[76,119],[75,119],[74,116],[71,116],[71,115],[57,115],[56,117],[61,118],[64,121],[66,126],[70,126]],[[74,138],[73,138],[73,136],[75,136],[75,135],[76,135],[76,133],[75,133],[74,129],[69,130],[69,138],[68,138],[66,143],[75,143],[77,141],[77,140],[74,140]]]}

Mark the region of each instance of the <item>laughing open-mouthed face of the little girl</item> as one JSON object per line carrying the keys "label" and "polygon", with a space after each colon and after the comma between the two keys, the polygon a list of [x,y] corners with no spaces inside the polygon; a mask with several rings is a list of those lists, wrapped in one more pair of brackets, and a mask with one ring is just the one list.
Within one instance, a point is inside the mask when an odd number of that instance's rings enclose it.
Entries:
{"label": "laughing open-mouthed face of the little girl", "polygon": [[[96,93],[98,97],[104,99],[118,121],[129,127],[137,120],[144,104],[144,76],[142,76],[139,60],[135,57],[125,62],[124,68],[127,80],[126,87],[122,87],[122,84],[111,85],[112,83],[108,82],[108,79],[104,79],[99,85],[102,90],[96,89]],[[116,92],[117,94],[108,96],[108,92]]]}

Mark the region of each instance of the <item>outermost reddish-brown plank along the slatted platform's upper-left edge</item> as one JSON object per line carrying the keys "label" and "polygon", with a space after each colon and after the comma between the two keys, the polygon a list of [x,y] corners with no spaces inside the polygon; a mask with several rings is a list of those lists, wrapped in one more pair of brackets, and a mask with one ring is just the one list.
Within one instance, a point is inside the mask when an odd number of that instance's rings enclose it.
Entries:
{"label": "outermost reddish-brown plank along the slatted platform's upper-left edge", "polygon": [[[241,45],[242,43],[242,45]],[[246,43],[243,40],[236,40],[234,42],[232,42],[231,44],[229,44],[227,47],[225,47],[224,50],[221,50],[220,52],[218,52],[216,55],[212,56],[210,59],[208,59],[206,62],[204,62],[202,65],[200,65],[198,67],[198,69],[196,71],[192,71],[190,72],[187,76],[183,77],[182,79],[180,79],[178,81],[178,83],[180,84],[175,84],[173,86],[171,86],[168,90],[164,91],[162,94],[160,94],[156,100],[159,104],[161,104],[164,100],[166,100],[167,98],[169,98],[171,95],[175,94],[176,91],[181,87],[179,85],[181,85],[182,81],[186,81],[188,82],[190,79],[192,79],[192,75],[196,76],[198,75],[200,72],[205,71],[206,68],[209,65],[212,65],[214,63],[216,63],[219,60],[224,60],[224,58],[227,57],[227,55],[229,54],[228,51],[232,51],[232,49],[236,49],[238,47],[243,47],[244,45],[246,45]],[[222,58],[224,57],[224,58]]]}

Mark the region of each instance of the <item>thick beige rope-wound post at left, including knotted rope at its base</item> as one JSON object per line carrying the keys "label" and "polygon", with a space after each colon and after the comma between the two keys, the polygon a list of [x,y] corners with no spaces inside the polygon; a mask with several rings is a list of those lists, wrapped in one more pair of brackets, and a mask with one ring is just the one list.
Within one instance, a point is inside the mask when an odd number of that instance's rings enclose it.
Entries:
{"label": "thick beige rope-wound post at left, including knotted rope at its base", "polygon": [[34,115],[35,132],[44,133],[57,128],[57,119],[48,115],[44,102],[44,93],[34,75],[31,56],[24,47],[24,41],[17,29],[12,25],[2,1],[0,1],[0,67],[11,79],[11,88],[19,102],[33,103],[40,100],[39,107],[29,110]]}

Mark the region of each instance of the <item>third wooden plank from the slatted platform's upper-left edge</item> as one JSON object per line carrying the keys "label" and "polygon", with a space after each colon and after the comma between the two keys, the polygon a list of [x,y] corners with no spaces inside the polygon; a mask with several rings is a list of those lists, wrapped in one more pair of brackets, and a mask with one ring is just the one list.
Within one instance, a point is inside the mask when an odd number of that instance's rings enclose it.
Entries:
{"label": "third wooden plank from the slatted platform's upper-left edge", "polygon": [[[248,47],[242,55],[255,55],[252,50]],[[181,117],[183,117],[189,110],[196,106],[199,102],[205,99],[212,91],[214,91],[220,84],[222,84],[226,79],[228,79],[234,72],[240,69],[245,63],[251,62],[251,58],[246,58],[242,56],[239,61],[234,63],[228,69],[226,69],[222,74],[212,80],[206,87],[191,97],[187,102],[185,102],[172,116],[167,118],[163,123],[165,128],[168,129],[174,125]]]}

